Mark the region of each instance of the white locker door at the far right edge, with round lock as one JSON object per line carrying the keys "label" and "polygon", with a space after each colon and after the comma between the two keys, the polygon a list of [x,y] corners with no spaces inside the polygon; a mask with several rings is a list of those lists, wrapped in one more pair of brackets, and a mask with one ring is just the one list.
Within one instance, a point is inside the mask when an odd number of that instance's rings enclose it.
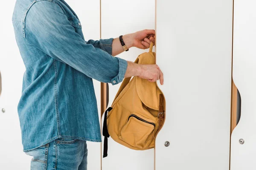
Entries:
{"label": "white locker door at the far right edge, with round lock", "polygon": [[234,1],[233,80],[241,95],[241,117],[231,136],[230,170],[256,169],[255,7],[255,0]]}

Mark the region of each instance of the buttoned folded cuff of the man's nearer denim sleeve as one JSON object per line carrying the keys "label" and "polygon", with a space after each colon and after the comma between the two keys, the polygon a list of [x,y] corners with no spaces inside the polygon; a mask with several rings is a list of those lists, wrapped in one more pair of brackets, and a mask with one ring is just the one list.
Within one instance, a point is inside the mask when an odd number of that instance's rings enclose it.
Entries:
{"label": "buttoned folded cuff of the man's nearer denim sleeve", "polygon": [[116,77],[111,79],[112,85],[117,85],[119,82],[122,82],[127,69],[127,61],[118,57],[116,58],[119,60],[119,73],[116,75]]}

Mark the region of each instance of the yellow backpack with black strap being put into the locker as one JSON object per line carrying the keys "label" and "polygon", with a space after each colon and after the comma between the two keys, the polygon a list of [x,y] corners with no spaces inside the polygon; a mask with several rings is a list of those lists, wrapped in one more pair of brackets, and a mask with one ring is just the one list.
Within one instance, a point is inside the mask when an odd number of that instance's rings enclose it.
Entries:
{"label": "yellow backpack with black strap being put into the locker", "polygon": [[[134,63],[155,64],[151,43],[149,52]],[[103,123],[104,153],[108,156],[108,137],[134,150],[154,148],[157,133],[165,119],[164,97],[156,82],[140,77],[125,78],[113,104],[105,111]]]}

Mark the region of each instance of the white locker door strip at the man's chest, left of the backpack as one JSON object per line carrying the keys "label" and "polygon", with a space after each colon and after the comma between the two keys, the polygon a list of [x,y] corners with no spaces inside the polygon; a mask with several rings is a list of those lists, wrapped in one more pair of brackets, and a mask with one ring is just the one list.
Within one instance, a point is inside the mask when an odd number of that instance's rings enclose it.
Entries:
{"label": "white locker door strip at the man's chest, left of the backpack", "polygon": [[[100,0],[65,0],[76,12],[82,25],[84,39],[100,39]],[[93,79],[96,93],[99,117],[100,113],[100,82]],[[87,142],[88,148],[88,170],[101,169],[101,143]]]}

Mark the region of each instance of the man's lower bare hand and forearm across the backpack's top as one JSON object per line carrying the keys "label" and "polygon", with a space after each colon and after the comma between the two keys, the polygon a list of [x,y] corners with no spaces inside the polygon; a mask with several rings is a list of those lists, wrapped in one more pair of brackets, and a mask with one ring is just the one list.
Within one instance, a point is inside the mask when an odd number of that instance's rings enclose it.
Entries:
{"label": "man's lower bare hand and forearm across the backpack's top", "polygon": [[160,84],[163,85],[163,73],[158,65],[140,65],[130,61],[127,61],[127,63],[125,77],[138,76],[142,79],[148,79],[150,82],[160,79]]}

